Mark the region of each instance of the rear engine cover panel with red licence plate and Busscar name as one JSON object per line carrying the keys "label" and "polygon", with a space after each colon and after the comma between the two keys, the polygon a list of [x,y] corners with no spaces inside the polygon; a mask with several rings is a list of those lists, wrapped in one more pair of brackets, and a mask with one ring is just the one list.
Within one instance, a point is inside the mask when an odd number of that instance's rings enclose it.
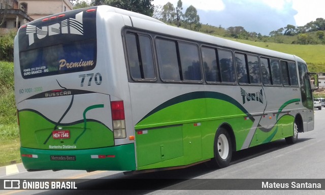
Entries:
{"label": "rear engine cover panel with red licence plate and Busscar name", "polygon": [[114,146],[112,127],[107,123],[109,100],[109,95],[89,93],[21,102],[21,146],[55,150]]}

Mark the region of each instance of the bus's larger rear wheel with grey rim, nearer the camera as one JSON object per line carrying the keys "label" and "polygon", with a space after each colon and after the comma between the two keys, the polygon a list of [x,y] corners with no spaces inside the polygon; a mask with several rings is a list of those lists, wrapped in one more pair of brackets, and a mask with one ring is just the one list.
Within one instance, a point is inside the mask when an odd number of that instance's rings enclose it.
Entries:
{"label": "bus's larger rear wheel with grey rim, nearer the camera", "polygon": [[232,153],[231,136],[226,129],[220,127],[214,138],[214,158],[208,162],[207,166],[210,168],[228,167]]}

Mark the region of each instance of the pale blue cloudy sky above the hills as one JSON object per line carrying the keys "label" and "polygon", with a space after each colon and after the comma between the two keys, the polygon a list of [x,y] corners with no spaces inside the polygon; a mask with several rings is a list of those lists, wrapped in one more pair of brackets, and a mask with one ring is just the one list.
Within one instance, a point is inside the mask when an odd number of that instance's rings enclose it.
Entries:
{"label": "pale blue cloudy sky above the hills", "polygon": [[[151,4],[172,3],[178,0],[154,0]],[[200,22],[228,28],[242,26],[246,31],[269,35],[288,24],[304,26],[316,18],[325,18],[324,0],[182,0],[183,10],[194,6]]]}

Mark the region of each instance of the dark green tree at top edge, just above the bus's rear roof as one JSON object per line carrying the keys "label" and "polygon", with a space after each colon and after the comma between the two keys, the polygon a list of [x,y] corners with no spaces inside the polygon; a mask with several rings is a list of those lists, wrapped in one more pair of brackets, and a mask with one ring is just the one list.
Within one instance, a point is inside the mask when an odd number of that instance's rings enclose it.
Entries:
{"label": "dark green tree at top edge, just above the bus's rear roof", "polygon": [[147,16],[152,16],[154,7],[151,5],[153,0],[93,0],[105,2],[105,5],[113,6],[123,10],[137,12]]}

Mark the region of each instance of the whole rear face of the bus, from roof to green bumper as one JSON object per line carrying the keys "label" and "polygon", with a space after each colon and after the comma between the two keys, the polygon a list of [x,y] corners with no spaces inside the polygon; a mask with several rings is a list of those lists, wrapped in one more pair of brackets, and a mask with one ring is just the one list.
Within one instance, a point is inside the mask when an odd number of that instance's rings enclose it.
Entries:
{"label": "whole rear face of the bus, from roof to green bumper", "polygon": [[[86,35],[86,24],[93,23],[95,20],[86,18],[85,9],[71,13],[63,16],[62,20],[66,18],[78,20],[77,15],[83,15],[83,29],[85,29],[84,34]],[[120,37],[121,26],[124,26],[123,17],[116,13],[107,14],[97,11],[93,13],[97,15],[97,18],[106,20],[101,21],[106,25],[96,25],[96,30],[92,29],[93,32],[108,30],[112,34],[110,39],[104,39],[103,42],[96,41],[98,44],[96,47],[113,48],[114,45],[120,45],[120,47],[115,47],[117,51],[115,49],[96,49],[95,52],[89,52],[93,49],[89,48],[87,52],[96,56],[93,62],[89,62],[89,66],[94,67],[88,71],[73,71],[69,73],[69,79],[67,79],[68,74],[47,76],[46,64],[35,64],[36,68],[22,70],[20,64],[26,62],[17,60],[19,55],[25,52],[18,51],[18,48],[21,48],[19,44],[21,42],[18,39],[23,36],[27,36],[29,39],[30,35],[26,30],[29,26],[35,25],[36,28],[45,29],[47,26],[57,25],[56,23],[62,25],[61,20],[56,21],[55,24],[38,20],[35,23],[29,23],[27,27],[21,28],[18,32],[15,42],[15,92],[20,122],[21,154],[26,169],[136,170],[135,149],[132,144],[134,141],[128,139],[129,136],[134,135],[134,132],[129,130],[129,126],[133,126],[132,119],[125,120],[127,121],[125,125],[128,126],[127,138],[114,139],[111,114],[111,101],[124,101],[125,108],[130,107],[129,101],[127,101],[129,99],[128,90],[123,87],[125,83],[127,84],[124,55],[119,54],[121,57],[118,59],[110,57],[123,51]],[[117,19],[121,22],[114,22],[115,26],[110,25],[112,22],[109,21],[112,18],[114,21]],[[80,17],[79,21],[81,21]],[[113,30],[114,28],[116,30]],[[39,41],[44,43],[44,40],[52,39],[55,36],[60,35],[50,36],[48,34],[39,39],[40,37],[36,36],[35,32],[33,44],[38,44]],[[103,35],[99,33],[99,36]],[[69,42],[67,43],[67,49],[72,47]],[[66,47],[64,44],[66,43],[62,43],[62,47]],[[76,47],[78,46],[76,45]],[[38,53],[43,52],[44,55],[46,52],[37,47],[26,52],[33,53],[34,50]],[[74,69],[82,66],[84,61],[84,58],[81,58],[77,60],[78,63],[72,64],[70,63],[72,60],[68,58],[61,59],[60,61],[63,62],[59,62],[58,66],[62,69]],[[120,66],[111,64],[120,64]],[[42,74],[42,76],[34,74]],[[27,78],[23,78],[23,76]],[[117,82],[116,77],[122,82]],[[117,87],[119,87],[118,90],[116,90]],[[132,118],[129,113],[127,109],[125,111],[126,118]],[[38,158],[29,156],[38,156]],[[54,156],[53,159],[50,156]],[[73,160],[64,158],[64,156],[70,156]],[[106,165],[100,165],[102,163],[97,161],[98,156],[102,162],[106,162],[104,163]],[[106,160],[101,159],[103,156]],[[67,161],[69,164],[65,164]],[[94,163],[99,165],[93,166]]]}

